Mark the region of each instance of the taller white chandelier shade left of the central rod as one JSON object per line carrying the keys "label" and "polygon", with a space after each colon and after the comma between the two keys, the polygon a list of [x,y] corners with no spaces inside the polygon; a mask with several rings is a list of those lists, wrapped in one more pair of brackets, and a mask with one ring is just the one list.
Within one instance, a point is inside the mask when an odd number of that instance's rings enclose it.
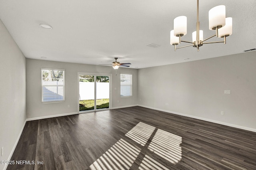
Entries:
{"label": "taller white chandelier shade left of the central rod", "polygon": [[173,20],[174,36],[185,36],[187,34],[187,17],[178,16]]}

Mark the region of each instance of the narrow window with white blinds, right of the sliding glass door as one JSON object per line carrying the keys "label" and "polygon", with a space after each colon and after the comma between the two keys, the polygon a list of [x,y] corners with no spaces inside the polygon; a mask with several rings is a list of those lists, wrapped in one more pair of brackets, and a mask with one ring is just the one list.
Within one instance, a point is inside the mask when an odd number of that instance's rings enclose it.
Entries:
{"label": "narrow window with white blinds, right of the sliding glass door", "polygon": [[120,74],[120,95],[132,96],[132,74]]}

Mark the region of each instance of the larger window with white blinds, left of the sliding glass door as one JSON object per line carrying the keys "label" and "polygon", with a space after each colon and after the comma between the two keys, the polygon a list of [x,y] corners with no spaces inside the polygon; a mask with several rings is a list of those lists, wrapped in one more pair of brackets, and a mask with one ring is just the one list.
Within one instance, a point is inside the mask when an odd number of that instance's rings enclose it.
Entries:
{"label": "larger window with white blinds, left of the sliding glass door", "polygon": [[64,101],[64,70],[41,69],[42,102]]}

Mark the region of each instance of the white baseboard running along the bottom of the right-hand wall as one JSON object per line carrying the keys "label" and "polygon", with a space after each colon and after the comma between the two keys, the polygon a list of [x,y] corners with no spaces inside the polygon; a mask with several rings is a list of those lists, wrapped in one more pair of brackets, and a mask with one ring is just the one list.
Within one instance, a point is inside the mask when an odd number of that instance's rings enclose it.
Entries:
{"label": "white baseboard running along the bottom of the right-hand wall", "polygon": [[167,111],[167,110],[163,110],[163,109],[157,109],[157,108],[154,108],[154,107],[148,107],[148,106],[143,106],[143,105],[138,105],[138,106],[145,107],[145,108],[148,108],[148,109],[154,109],[154,110],[157,110],[157,111],[163,111],[163,112],[166,112],[166,113],[172,113],[172,114],[175,114],[175,115],[180,115],[180,116],[190,117],[190,118],[194,118],[194,119],[199,119],[199,120],[202,120],[202,121],[217,123],[217,124],[220,124],[220,125],[226,125],[226,126],[229,126],[229,127],[240,128],[240,129],[243,129],[243,130],[256,132],[256,129],[254,129],[254,128],[243,127],[243,126],[234,125],[234,124],[225,123],[225,122],[220,122],[220,121],[214,121],[212,119],[206,119],[206,118],[202,118],[202,117],[186,115],[186,114],[183,114],[183,113],[177,113],[177,112]]}

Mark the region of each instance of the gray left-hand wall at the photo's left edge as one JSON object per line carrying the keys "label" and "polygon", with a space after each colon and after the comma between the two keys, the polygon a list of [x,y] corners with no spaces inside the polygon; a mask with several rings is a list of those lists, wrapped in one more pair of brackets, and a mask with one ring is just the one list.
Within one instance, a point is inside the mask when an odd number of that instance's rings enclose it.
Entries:
{"label": "gray left-hand wall at the photo's left edge", "polygon": [[26,121],[26,59],[1,20],[0,59],[0,160],[9,160]]}

